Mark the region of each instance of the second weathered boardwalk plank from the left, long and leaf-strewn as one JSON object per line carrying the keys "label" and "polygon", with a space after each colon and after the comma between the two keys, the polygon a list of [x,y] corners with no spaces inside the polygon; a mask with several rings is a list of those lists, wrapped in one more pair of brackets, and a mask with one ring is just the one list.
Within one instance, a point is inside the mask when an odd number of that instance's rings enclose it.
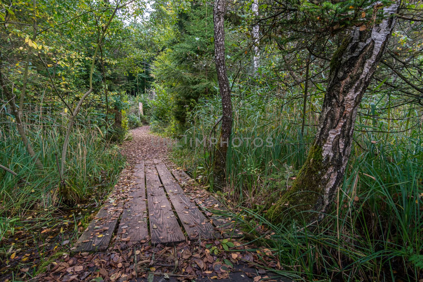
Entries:
{"label": "second weathered boardwalk plank from the left, long and leaf-strewn", "polygon": [[117,234],[119,239],[136,244],[148,236],[144,162],[135,165],[134,175],[136,183],[124,204]]}

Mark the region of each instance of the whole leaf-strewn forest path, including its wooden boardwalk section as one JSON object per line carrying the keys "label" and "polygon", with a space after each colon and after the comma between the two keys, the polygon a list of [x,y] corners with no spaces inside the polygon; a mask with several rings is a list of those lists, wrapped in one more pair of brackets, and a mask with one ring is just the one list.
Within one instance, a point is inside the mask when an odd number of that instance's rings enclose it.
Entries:
{"label": "whole leaf-strewn forest path, including its wooden boardwalk section", "polygon": [[292,281],[265,270],[283,267],[271,250],[247,243],[231,217],[215,214],[227,210],[168,160],[169,148],[153,145],[148,126],[131,133],[108,201],[32,281]]}

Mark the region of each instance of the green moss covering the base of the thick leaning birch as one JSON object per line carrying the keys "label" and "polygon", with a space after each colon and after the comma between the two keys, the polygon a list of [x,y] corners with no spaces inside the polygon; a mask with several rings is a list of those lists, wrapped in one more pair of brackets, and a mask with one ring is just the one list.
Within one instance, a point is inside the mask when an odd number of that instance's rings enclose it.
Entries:
{"label": "green moss covering the base of the thick leaning birch", "polygon": [[314,210],[321,203],[321,172],[324,169],[322,148],[314,145],[292,187],[269,208],[266,218],[270,222],[280,223],[285,216],[295,220],[317,217],[317,213],[307,211]]}

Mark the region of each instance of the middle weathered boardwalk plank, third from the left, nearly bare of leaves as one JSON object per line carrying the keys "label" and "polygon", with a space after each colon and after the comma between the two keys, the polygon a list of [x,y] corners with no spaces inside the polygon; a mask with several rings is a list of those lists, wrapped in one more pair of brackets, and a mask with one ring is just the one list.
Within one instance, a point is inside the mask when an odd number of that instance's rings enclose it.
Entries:
{"label": "middle weathered boardwalk plank, third from the left, nearly bare of leaves", "polygon": [[151,243],[169,245],[185,241],[154,163],[146,161],[145,166]]}

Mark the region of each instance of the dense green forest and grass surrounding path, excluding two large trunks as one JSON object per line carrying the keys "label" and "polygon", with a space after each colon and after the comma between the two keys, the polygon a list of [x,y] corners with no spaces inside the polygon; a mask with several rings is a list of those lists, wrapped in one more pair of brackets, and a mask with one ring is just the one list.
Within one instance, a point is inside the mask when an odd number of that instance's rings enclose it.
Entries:
{"label": "dense green forest and grass surrounding path, excluding two large trunks", "polygon": [[[249,142],[228,147],[220,187],[213,146],[184,142],[219,136],[213,3],[2,0],[0,240],[107,195],[125,164],[117,144],[144,123],[179,140],[173,162],[243,207],[233,216],[279,250],[286,271],[308,281],[422,279],[421,1],[399,4],[327,216],[264,216],[307,162],[344,38],[370,30],[390,3],[226,3],[231,136]],[[274,144],[256,146],[255,137]],[[272,237],[257,237],[255,222]]]}

